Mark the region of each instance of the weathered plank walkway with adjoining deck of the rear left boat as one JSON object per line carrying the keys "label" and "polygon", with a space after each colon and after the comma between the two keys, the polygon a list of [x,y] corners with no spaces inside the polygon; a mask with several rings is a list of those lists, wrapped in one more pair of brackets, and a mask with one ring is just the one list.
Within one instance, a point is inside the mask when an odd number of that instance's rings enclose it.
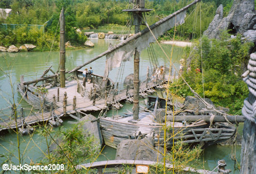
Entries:
{"label": "weathered plank walkway with adjoining deck of the rear left boat", "polygon": [[[82,80],[79,80],[80,84],[83,84]],[[161,82],[162,83],[162,82]],[[36,113],[30,112],[29,115],[24,115],[24,121],[28,125],[32,125],[35,123],[40,123],[43,121],[50,120],[52,118],[52,113],[54,117],[63,117],[63,115],[70,115],[76,112],[90,112],[90,111],[99,111],[102,109],[107,109],[107,107],[112,106],[122,100],[130,98],[133,96],[133,89],[123,89],[116,92],[109,92],[107,98],[102,96],[98,96],[95,101],[93,100],[92,92],[93,85],[95,88],[98,87],[98,84],[95,83],[87,83],[85,84],[85,95],[82,96],[78,90],[78,84],[76,80],[66,81],[65,88],[57,87],[49,87],[47,94],[40,94],[37,91],[36,87],[33,85],[25,85],[24,89],[22,89],[21,84],[18,85],[18,90],[23,96],[23,99],[27,101],[29,104],[33,106],[33,109],[38,109]],[[147,91],[148,89],[152,89],[158,86],[159,83],[149,82],[149,83],[141,83],[140,92]],[[59,94],[58,94],[59,90]],[[113,89],[113,91],[115,88]],[[64,93],[67,94],[67,105],[66,105],[66,114],[64,113],[63,107],[63,99]],[[56,96],[56,108],[53,108],[51,111],[51,103],[53,103],[53,95]],[[76,97],[76,106],[74,108],[74,96]],[[58,100],[59,98],[59,100]],[[9,115],[9,119],[1,119],[0,121],[0,131],[6,129],[15,129],[17,127],[22,126],[21,115],[17,115],[17,120],[15,121],[13,115]],[[17,125],[16,125],[17,124]]]}

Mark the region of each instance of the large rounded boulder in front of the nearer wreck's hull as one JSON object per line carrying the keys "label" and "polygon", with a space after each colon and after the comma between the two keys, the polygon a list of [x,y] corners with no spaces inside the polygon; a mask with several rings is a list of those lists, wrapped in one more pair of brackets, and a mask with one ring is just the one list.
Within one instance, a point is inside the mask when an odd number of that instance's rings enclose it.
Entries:
{"label": "large rounded boulder in front of the nearer wreck's hull", "polygon": [[151,136],[141,140],[122,140],[117,146],[116,160],[161,161],[163,156],[160,152],[163,153],[163,148],[157,148]]}

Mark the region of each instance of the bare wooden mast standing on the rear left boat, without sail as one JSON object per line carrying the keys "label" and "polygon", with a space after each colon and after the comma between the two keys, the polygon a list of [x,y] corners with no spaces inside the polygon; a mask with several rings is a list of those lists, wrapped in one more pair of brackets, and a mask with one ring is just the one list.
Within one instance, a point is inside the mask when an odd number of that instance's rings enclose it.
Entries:
{"label": "bare wooden mast standing on the rear left boat, without sail", "polygon": [[65,17],[62,7],[60,15],[60,83],[61,88],[65,88]]}

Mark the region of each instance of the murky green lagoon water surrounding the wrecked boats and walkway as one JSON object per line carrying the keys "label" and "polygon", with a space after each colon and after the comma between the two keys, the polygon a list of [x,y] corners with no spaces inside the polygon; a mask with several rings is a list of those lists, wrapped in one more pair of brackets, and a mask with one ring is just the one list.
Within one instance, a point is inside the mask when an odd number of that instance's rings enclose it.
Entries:
{"label": "murky green lagoon water surrounding the wrecked boats and walkway", "polygon": [[[94,48],[85,48],[79,50],[67,50],[66,51],[66,69],[70,70],[78,65],[81,65],[103,51],[107,50],[109,43],[114,45],[120,41],[114,40],[91,40],[94,44]],[[171,45],[162,45],[163,49],[170,56],[171,55]],[[156,55],[158,57],[159,65],[169,66],[169,60],[162,53],[159,46],[154,45]],[[172,62],[178,68],[179,60],[183,54],[183,49],[181,47],[174,47]],[[52,65],[52,69],[56,71],[59,65],[59,52],[20,52],[20,53],[0,53],[0,67],[5,73],[0,71],[0,110],[10,107],[12,103],[12,88],[10,85],[10,76],[11,83],[13,84],[13,95],[15,102],[20,102],[21,95],[17,93],[16,85],[20,81],[20,75],[24,75],[24,80],[29,81],[35,78],[39,78],[41,74]],[[94,73],[103,75],[104,66],[105,66],[105,57],[93,62],[92,64],[86,66],[88,68],[92,66]],[[147,72],[147,67],[151,66],[148,58],[147,50],[142,51],[140,56],[140,75],[144,75]],[[111,71],[109,77],[113,81],[115,79],[118,68]],[[123,71],[123,78],[133,73],[133,61],[125,63],[125,69]],[[141,101],[143,103],[143,101]],[[30,106],[22,101],[19,107],[30,108]],[[132,110],[131,104],[124,104],[124,107],[118,111],[108,111],[108,114],[121,114],[126,112],[126,109]],[[98,116],[98,112],[93,112],[95,116]],[[0,112],[0,118],[3,117],[3,112]],[[71,120],[71,119],[70,119]],[[65,120],[63,127],[67,128],[70,124]],[[241,127],[241,126],[240,126]],[[58,128],[56,128],[58,129]],[[17,140],[16,135],[13,131],[10,131],[6,135],[0,138],[0,154],[7,155],[9,152],[13,152],[14,157],[9,157],[14,163],[17,163]],[[28,136],[21,137],[21,152],[23,154],[23,162],[29,163],[30,160],[33,162],[39,162],[44,157],[46,152],[46,143],[45,138],[39,136],[39,134],[34,134],[32,139]],[[228,168],[233,170],[233,161],[230,160],[231,147],[222,147],[222,146],[211,146],[205,149],[204,152],[204,161],[206,169],[213,169],[218,160],[225,159],[227,161]],[[237,154],[240,155],[240,148],[237,148]],[[9,151],[9,152],[8,152]],[[98,160],[113,160],[115,159],[116,150],[111,147],[105,147],[103,150],[102,156]],[[237,158],[240,162],[240,157]],[[0,163],[3,163],[6,158],[0,157]],[[202,158],[203,160],[203,158]],[[1,168],[2,170],[2,168]],[[234,172],[238,173],[238,172]]]}

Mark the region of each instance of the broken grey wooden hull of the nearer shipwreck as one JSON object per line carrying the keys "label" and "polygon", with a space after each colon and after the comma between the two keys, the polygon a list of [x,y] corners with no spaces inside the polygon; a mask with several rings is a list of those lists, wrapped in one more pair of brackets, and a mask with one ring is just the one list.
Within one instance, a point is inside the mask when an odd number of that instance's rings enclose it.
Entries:
{"label": "broken grey wooden hull of the nearer shipwreck", "polygon": [[[156,123],[153,115],[148,112],[140,113],[140,121],[132,120],[132,116],[119,118],[100,118],[100,129],[102,137],[107,146],[117,148],[122,140],[141,139],[151,135],[154,138],[155,146],[164,146],[163,124]],[[209,128],[205,121],[187,124],[168,122],[167,146],[182,141],[183,143],[200,143],[205,145],[216,144],[231,138],[235,128]]]}

